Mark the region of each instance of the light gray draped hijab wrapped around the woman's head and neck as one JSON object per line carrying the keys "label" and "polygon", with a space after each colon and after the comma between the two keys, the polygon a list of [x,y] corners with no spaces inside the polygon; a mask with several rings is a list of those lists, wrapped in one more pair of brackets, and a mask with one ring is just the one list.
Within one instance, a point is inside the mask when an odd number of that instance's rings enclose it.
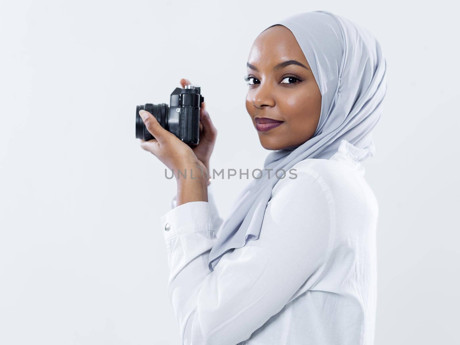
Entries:
{"label": "light gray draped hijab wrapped around the woman's head and neck", "polygon": [[[304,52],[322,95],[316,132],[305,143],[272,151],[264,169],[237,197],[228,218],[221,224],[217,242],[209,253],[213,271],[222,255],[259,238],[272,189],[279,181],[274,172],[288,172],[308,158],[329,159],[345,139],[363,149],[358,161],[374,154],[371,132],[382,113],[386,93],[386,61],[377,40],[364,28],[328,11],[300,13],[275,24],[293,33]],[[265,29],[264,29],[265,31]],[[282,171],[279,173],[282,178]]]}

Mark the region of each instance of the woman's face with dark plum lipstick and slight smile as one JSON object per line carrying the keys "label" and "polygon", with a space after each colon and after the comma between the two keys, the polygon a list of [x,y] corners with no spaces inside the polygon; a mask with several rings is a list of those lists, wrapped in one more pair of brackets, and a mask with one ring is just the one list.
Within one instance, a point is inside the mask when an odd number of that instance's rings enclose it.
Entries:
{"label": "woman's face with dark plum lipstick and slight smile", "polygon": [[299,146],[313,136],[321,92],[288,28],[272,26],[256,38],[247,61],[247,81],[246,109],[265,149]]}

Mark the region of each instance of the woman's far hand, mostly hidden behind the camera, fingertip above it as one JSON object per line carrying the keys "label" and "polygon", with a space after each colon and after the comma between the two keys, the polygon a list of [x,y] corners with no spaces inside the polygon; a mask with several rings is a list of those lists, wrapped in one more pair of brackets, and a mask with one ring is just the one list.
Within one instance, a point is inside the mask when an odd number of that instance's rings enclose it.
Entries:
{"label": "woman's far hand, mostly hidden behind the camera, fingertip above it", "polygon": [[[180,84],[182,85],[182,88],[184,88],[186,85],[191,83],[187,79],[181,79]],[[198,145],[192,147],[192,150],[195,153],[196,158],[203,163],[209,173],[211,172],[209,170],[209,159],[213,153],[216,138],[217,129],[214,127],[206,110],[206,103],[202,102],[200,109],[200,141]]]}

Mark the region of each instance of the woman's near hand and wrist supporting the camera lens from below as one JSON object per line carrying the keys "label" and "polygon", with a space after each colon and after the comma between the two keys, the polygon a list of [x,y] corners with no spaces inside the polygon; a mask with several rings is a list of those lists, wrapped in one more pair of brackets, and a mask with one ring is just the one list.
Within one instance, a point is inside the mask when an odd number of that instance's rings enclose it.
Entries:
{"label": "woman's near hand and wrist supporting the camera lens from below", "polygon": [[139,115],[155,137],[148,141],[141,139],[141,147],[173,171],[178,183],[177,206],[190,201],[208,201],[207,167],[196,158],[189,145],[161,127],[155,116],[144,110],[140,110]]}

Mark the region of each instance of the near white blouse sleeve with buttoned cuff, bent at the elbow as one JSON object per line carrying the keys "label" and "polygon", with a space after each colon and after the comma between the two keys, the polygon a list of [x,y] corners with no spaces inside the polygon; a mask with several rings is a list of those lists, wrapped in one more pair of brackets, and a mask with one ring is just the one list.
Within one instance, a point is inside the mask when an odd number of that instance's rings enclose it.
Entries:
{"label": "near white blouse sleeve with buttoned cuff, bent at the elbow", "polygon": [[[211,272],[216,236],[209,203],[182,204],[161,218],[168,296],[184,345],[235,345],[311,288],[332,250],[334,205],[313,170],[276,184],[258,240],[231,249]],[[168,228],[168,227],[167,227]]]}

